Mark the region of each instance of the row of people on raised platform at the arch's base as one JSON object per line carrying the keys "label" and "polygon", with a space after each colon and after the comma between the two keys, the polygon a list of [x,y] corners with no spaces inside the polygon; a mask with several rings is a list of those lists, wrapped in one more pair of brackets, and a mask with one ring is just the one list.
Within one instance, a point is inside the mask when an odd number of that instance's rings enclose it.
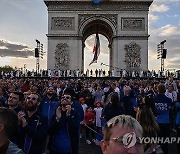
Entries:
{"label": "row of people on raised platform at the arch's base", "polygon": [[167,78],[173,74],[175,78],[180,78],[180,71],[155,71],[155,70],[125,70],[119,68],[112,68],[111,70],[57,70],[57,69],[40,69],[39,72],[36,70],[15,69],[9,72],[0,72],[0,78],[14,78],[14,77],[130,77],[130,78]]}

